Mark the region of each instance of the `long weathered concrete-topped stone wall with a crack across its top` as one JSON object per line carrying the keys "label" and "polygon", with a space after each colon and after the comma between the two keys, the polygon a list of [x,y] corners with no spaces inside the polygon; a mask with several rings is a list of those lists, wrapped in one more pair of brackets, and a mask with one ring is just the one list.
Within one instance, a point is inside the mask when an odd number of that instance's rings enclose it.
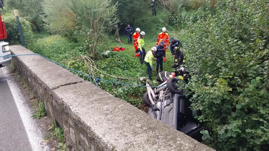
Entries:
{"label": "long weathered concrete-topped stone wall with a crack across its top", "polygon": [[[33,53],[11,45],[13,55]],[[13,57],[71,151],[213,150],[37,55]]]}

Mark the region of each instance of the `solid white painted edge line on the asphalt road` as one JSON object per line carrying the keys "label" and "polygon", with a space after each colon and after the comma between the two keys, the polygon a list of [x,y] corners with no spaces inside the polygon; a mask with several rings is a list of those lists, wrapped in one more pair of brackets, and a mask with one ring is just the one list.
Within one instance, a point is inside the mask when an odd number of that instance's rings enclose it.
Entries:
{"label": "solid white painted edge line on the asphalt road", "polygon": [[[4,76],[6,76],[7,69],[3,67],[2,70],[3,70]],[[32,113],[30,113],[30,108],[24,103],[27,100],[25,100],[25,98],[22,97],[22,94],[20,93],[20,89],[16,85],[16,83],[13,83],[11,79],[8,79],[8,78],[6,80],[10,88],[10,91],[13,95],[13,98],[15,100],[17,109],[19,111],[27,136],[30,141],[29,144],[31,145],[33,151],[49,151],[50,148],[46,145],[40,128],[36,127],[35,122],[33,121],[33,118],[31,117]],[[42,144],[41,146],[40,142],[44,142],[45,146],[44,144]]]}

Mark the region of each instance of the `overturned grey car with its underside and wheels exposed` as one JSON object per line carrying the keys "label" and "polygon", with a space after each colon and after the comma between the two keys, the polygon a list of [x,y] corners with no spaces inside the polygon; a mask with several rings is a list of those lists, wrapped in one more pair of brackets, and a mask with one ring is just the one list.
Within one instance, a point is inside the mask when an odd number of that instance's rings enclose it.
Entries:
{"label": "overturned grey car with its underside and wheels exposed", "polygon": [[190,97],[186,97],[184,90],[178,90],[179,82],[186,80],[176,77],[169,78],[154,90],[146,82],[147,91],[143,95],[143,102],[149,107],[148,115],[156,118],[184,134],[202,141],[201,130],[208,130],[194,117],[198,111],[190,110]]}

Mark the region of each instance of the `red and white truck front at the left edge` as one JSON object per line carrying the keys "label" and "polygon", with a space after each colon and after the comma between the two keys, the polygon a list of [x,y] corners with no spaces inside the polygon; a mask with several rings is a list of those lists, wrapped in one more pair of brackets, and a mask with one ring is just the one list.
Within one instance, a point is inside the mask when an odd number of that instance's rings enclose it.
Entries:
{"label": "red and white truck front at the left edge", "polygon": [[[3,1],[0,0],[0,11],[3,11]],[[4,39],[7,38],[7,31],[5,23],[2,20],[0,13],[0,68],[4,67],[11,63],[10,50],[7,42],[4,42]],[[6,56],[6,57],[5,57]]]}

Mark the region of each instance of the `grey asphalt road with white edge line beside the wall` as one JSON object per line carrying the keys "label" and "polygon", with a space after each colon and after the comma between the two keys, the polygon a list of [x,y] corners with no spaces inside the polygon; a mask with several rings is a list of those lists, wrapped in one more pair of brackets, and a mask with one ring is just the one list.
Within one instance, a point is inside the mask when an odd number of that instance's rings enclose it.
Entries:
{"label": "grey asphalt road with white edge line beside the wall", "polygon": [[16,75],[0,68],[0,151],[50,150],[32,113],[27,107],[27,96],[21,93]]}

